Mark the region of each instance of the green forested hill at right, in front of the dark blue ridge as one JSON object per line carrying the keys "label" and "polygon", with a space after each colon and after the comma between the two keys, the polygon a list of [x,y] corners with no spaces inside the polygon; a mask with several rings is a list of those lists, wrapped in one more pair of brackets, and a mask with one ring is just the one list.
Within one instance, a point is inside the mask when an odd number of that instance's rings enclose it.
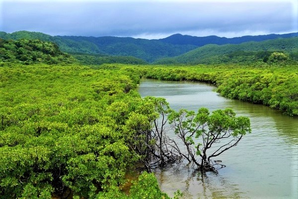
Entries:
{"label": "green forested hill at right, in front of the dark blue ridge", "polygon": [[241,44],[209,44],[180,56],[157,60],[155,64],[252,64],[257,61],[274,62],[276,59],[298,61],[298,37]]}

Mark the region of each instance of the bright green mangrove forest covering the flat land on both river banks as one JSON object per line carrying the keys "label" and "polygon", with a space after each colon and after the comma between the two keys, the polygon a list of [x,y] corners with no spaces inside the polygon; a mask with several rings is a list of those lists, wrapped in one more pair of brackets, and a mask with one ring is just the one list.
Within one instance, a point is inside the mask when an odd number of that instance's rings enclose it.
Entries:
{"label": "bright green mangrove forest covering the flat land on both river banks", "polygon": [[[0,198],[49,198],[53,193],[62,196],[68,189],[74,198],[134,198],[140,193],[163,196],[155,186],[156,179],[146,174],[149,182],[141,179],[139,183],[152,187],[133,189],[130,196],[120,190],[127,170],[146,158],[132,150],[144,146],[134,138],[143,138],[140,132],[151,129],[154,119],[167,107],[162,99],[140,98],[135,89],[141,76],[213,83],[223,96],[298,115],[296,65],[84,67],[2,63]],[[234,118],[229,110],[213,114],[206,109],[199,114],[187,112],[187,117],[194,119],[183,126],[192,130],[198,121],[210,120],[214,124],[211,128],[218,129],[217,122],[229,121],[226,115]],[[241,129],[245,122],[237,117],[227,123]],[[192,136],[186,140],[192,145],[196,142]],[[202,154],[201,150],[196,153]]]}

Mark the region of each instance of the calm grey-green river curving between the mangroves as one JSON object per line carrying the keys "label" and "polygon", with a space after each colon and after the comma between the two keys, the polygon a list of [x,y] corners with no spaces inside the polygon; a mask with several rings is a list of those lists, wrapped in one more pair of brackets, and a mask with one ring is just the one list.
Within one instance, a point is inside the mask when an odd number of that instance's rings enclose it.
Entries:
{"label": "calm grey-green river curving between the mangroves", "polygon": [[202,176],[187,166],[156,170],[161,190],[173,197],[179,189],[185,199],[298,199],[298,117],[226,99],[214,89],[200,83],[142,80],[138,90],[142,97],[165,98],[173,109],[229,107],[251,122],[252,133],[217,157],[226,165],[218,175]]}

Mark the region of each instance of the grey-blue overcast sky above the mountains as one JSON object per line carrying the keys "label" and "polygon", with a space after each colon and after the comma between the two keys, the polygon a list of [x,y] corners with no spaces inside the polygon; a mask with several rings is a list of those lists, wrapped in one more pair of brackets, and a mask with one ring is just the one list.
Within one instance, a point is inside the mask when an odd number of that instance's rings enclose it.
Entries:
{"label": "grey-blue overcast sky above the mountains", "polygon": [[0,0],[0,31],[156,39],[298,32],[298,0]]}

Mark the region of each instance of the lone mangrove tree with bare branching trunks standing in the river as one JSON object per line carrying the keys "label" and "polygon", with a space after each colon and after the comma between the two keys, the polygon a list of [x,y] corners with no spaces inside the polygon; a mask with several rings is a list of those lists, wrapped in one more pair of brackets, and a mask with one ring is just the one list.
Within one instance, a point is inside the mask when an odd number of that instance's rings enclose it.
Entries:
{"label": "lone mangrove tree with bare branching trunks standing in the river", "polygon": [[[180,151],[184,150],[179,149],[179,153],[202,171],[216,171],[211,158],[236,146],[243,135],[251,132],[249,118],[235,115],[229,108],[215,110],[212,114],[207,108],[200,108],[197,113],[185,109],[172,111],[168,116],[169,123],[187,151],[183,154]],[[208,153],[209,149],[212,152]]]}

